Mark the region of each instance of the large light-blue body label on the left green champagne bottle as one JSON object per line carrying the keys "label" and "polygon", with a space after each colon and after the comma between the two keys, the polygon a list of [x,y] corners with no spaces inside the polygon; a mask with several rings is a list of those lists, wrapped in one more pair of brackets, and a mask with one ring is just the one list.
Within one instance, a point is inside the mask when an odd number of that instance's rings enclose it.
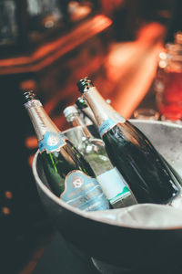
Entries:
{"label": "large light-blue body label on the left green champagne bottle", "polygon": [[66,175],[65,191],[60,198],[85,211],[109,209],[106,195],[96,179],[78,170]]}

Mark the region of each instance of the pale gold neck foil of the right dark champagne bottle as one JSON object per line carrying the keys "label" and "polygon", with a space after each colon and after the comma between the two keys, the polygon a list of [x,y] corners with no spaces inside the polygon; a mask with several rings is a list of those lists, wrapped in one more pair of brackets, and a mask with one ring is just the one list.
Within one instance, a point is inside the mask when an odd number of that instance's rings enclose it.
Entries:
{"label": "pale gold neck foil of the right dark champagne bottle", "polygon": [[[88,90],[85,90],[84,97],[96,117],[98,127],[102,125],[104,121],[117,114],[116,111],[106,103],[106,100],[99,94],[96,87],[90,87]],[[119,121],[124,122],[126,120],[119,115]]]}

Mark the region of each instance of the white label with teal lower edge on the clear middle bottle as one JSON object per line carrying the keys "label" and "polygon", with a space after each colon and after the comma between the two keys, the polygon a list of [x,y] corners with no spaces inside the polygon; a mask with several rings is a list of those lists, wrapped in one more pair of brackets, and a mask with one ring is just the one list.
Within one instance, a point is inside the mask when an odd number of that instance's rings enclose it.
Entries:
{"label": "white label with teal lower edge on the clear middle bottle", "polygon": [[131,195],[129,188],[125,183],[125,179],[116,167],[106,171],[104,174],[98,175],[96,179],[102,186],[102,189],[111,205],[127,195]]}

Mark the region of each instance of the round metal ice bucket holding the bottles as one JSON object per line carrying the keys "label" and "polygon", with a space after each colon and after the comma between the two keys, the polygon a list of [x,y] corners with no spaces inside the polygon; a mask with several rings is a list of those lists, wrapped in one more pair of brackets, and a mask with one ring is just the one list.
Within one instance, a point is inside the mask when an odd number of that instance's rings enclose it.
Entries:
{"label": "round metal ice bucket holding the bottles", "polygon": [[[157,150],[182,175],[182,126],[162,121],[130,121],[147,135]],[[76,142],[79,140],[79,131],[79,128],[74,128],[65,133],[71,141]],[[147,205],[141,209],[140,205],[133,205],[103,214],[86,213],[67,205],[50,191],[38,151],[33,162],[33,174],[41,201],[53,224],[67,243],[86,256],[123,269],[158,266],[161,269],[181,263],[181,209],[169,205],[151,205],[152,209]],[[142,210],[145,218],[135,223],[137,211],[142,218]],[[131,222],[125,218],[128,213]]]}

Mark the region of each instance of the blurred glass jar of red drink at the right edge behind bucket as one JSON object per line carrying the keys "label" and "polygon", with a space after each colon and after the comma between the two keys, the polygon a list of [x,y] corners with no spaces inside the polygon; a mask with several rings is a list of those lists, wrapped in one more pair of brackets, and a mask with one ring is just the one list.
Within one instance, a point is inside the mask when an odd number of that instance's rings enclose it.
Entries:
{"label": "blurred glass jar of red drink at the right edge behind bucket", "polygon": [[182,120],[182,32],[159,53],[155,80],[157,108],[167,121]]}

